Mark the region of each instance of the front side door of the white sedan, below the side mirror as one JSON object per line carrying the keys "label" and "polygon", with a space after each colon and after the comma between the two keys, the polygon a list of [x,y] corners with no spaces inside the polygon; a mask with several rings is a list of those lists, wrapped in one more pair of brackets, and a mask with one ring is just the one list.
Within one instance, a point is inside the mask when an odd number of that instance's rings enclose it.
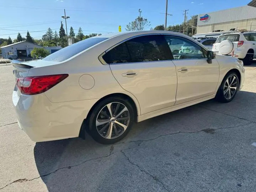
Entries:
{"label": "front side door of the white sedan, below the side mirror", "polygon": [[175,105],[214,95],[219,80],[219,63],[207,62],[207,50],[188,38],[165,35],[166,41],[178,38],[189,47],[185,52],[173,53],[177,71]]}

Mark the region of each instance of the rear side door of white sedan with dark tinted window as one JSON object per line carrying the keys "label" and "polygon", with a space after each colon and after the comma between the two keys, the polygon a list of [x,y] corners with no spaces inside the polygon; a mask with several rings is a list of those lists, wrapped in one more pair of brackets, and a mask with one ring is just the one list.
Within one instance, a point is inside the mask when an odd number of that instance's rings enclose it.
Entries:
{"label": "rear side door of white sedan with dark tinted window", "polygon": [[175,104],[177,75],[168,49],[163,36],[146,35],[129,39],[102,57],[123,89],[137,98],[141,114]]}

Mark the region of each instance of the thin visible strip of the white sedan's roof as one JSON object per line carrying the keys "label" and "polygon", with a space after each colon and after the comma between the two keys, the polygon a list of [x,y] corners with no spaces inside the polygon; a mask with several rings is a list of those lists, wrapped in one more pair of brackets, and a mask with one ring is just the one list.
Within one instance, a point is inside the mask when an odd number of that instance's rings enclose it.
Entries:
{"label": "thin visible strip of the white sedan's roof", "polygon": [[[100,37],[105,37],[105,38],[112,38],[116,36],[122,36],[124,34],[129,34],[130,36],[136,36],[136,35],[141,35],[141,34],[175,34],[183,37],[189,37],[185,34],[174,32],[174,31],[157,31],[157,30],[150,30],[150,31],[126,31],[126,32],[114,32],[114,33],[105,33],[100,36],[95,36],[93,38],[100,38]],[[190,37],[191,38],[191,37]]]}

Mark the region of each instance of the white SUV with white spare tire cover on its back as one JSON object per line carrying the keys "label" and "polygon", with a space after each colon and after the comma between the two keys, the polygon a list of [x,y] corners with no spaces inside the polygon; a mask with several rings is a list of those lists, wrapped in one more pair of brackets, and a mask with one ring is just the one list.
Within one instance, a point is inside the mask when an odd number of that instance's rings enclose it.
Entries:
{"label": "white SUV with white spare tire cover on its back", "polygon": [[213,44],[213,52],[230,55],[250,65],[256,58],[256,32],[245,31],[220,35]]}

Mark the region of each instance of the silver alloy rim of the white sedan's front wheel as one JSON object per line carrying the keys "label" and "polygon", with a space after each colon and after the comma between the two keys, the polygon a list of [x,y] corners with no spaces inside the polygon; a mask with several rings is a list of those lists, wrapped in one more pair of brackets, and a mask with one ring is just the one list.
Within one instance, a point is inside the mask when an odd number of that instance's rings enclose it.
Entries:
{"label": "silver alloy rim of the white sedan's front wheel", "polygon": [[224,97],[230,100],[234,97],[236,89],[238,88],[238,80],[234,75],[230,75],[224,84]]}

